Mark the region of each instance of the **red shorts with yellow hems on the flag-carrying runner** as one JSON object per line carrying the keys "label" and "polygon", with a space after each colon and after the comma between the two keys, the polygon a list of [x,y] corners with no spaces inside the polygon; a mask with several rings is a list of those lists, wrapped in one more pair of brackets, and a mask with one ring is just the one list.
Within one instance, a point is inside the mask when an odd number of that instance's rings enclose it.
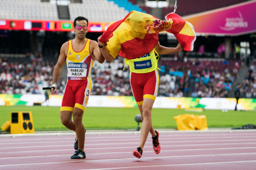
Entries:
{"label": "red shorts with yellow hems on the flag-carrying runner", "polygon": [[156,99],[159,84],[157,70],[147,73],[130,72],[130,86],[137,105],[143,104],[144,98]]}

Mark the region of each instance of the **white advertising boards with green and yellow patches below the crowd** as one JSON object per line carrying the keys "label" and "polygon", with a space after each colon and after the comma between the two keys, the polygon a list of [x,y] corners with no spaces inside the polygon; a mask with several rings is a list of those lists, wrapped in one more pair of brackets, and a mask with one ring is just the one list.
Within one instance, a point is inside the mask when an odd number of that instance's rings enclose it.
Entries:
{"label": "white advertising boards with green and yellow patches below the crowd", "polygon": [[[26,105],[61,106],[63,95],[0,94],[0,106]],[[137,107],[132,96],[91,95],[88,107]],[[235,110],[235,98],[157,97],[153,108]],[[239,99],[237,110],[256,110],[256,99]]]}

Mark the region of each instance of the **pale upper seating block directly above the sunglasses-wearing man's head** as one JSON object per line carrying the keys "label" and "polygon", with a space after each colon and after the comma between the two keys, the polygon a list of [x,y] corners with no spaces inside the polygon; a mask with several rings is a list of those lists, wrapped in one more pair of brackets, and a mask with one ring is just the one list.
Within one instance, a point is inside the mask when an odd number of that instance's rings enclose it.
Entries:
{"label": "pale upper seating block directly above the sunglasses-wearing man's head", "polygon": [[85,16],[89,22],[112,22],[123,19],[129,12],[119,8],[113,1],[83,0],[83,3],[70,3],[69,13],[71,20],[77,16]]}

